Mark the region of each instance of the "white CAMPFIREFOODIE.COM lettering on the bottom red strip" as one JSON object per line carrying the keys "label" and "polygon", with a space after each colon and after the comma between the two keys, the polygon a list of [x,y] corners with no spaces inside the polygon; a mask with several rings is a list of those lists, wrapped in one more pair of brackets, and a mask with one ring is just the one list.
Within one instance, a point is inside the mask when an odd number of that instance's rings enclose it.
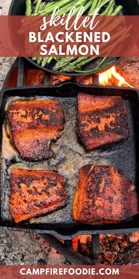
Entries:
{"label": "white CAMPFIREFOODIE.COM lettering on the bottom red strip", "polygon": [[21,275],[119,275],[118,268],[21,268]]}

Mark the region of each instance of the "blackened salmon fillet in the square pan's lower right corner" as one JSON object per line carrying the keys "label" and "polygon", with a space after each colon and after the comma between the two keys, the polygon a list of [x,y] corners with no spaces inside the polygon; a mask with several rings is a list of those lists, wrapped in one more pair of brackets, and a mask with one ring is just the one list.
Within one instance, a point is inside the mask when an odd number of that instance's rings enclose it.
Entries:
{"label": "blackened salmon fillet in the square pan's lower right corner", "polygon": [[117,223],[139,213],[136,187],[113,166],[80,169],[72,218],[87,224]]}

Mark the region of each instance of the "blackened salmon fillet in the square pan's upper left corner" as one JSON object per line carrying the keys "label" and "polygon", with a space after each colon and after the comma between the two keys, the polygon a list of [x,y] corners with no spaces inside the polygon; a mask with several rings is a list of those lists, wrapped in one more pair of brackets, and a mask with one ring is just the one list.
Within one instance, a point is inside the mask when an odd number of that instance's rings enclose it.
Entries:
{"label": "blackened salmon fillet in the square pan's upper left corner", "polygon": [[63,113],[59,101],[13,102],[8,110],[9,135],[22,159],[41,161],[52,157],[49,147],[60,137]]}

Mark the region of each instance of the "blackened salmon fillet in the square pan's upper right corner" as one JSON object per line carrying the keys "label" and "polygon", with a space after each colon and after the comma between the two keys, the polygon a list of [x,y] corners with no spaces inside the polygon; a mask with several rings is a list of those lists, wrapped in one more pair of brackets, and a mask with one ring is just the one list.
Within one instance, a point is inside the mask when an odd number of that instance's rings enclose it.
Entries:
{"label": "blackened salmon fillet in the square pan's upper right corner", "polygon": [[129,137],[128,120],[120,96],[77,96],[79,137],[87,151]]}

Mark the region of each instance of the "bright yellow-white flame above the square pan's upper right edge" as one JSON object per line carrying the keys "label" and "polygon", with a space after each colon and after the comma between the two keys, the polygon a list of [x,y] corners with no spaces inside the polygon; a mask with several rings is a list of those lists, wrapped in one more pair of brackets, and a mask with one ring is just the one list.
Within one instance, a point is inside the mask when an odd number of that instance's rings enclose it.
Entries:
{"label": "bright yellow-white flame above the square pan's upper right edge", "polygon": [[116,79],[118,79],[118,86],[129,86],[132,87],[130,84],[128,84],[125,79],[116,72],[115,66],[111,67],[109,70],[107,70],[106,72],[99,74],[99,85],[107,85],[109,84],[109,82],[113,79],[113,77],[115,77]]}

